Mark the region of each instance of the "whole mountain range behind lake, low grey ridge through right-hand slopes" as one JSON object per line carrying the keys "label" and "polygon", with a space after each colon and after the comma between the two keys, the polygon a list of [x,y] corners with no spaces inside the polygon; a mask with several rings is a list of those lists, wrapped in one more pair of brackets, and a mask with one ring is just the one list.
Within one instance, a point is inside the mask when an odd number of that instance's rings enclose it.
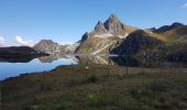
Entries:
{"label": "whole mountain range behind lake, low grey ridge through right-hand slopes", "polygon": [[158,29],[139,30],[123,24],[117,15],[111,14],[105,22],[99,20],[91,32],[86,32],[81,40],[73,45],[42,40],[34,48],[50,54],[111,53],[138,59],[183,59],[187,55],[187,25],[175,22]]}

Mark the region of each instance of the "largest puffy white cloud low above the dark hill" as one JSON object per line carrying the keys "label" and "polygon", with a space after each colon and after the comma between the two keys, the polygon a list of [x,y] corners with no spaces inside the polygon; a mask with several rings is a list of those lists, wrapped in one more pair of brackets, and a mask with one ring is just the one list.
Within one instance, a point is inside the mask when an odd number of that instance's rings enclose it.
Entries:
{"label": "largest puffy white cloud low above the dark hill", "polygon": [[25,41],[22,36],[15,36],[15,41],[19,45],[34,46],[35,42],[32,40]]}

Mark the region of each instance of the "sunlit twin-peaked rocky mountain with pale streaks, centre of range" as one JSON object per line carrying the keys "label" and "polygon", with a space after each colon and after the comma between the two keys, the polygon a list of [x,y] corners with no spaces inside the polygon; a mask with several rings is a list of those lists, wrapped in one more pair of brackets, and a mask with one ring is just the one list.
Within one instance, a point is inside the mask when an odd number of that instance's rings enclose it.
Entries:
{"label": "sunlit twin-peaked rocky mountain with pale streaks, centre of range", "polygon": [[102,54],[109,51],[125,38],[136,28],[123,24],[114,14],[111,14],[105,23],[98,21],[95,30],[85,33],[80,40],[80,45],[75,53],[78,54]]}

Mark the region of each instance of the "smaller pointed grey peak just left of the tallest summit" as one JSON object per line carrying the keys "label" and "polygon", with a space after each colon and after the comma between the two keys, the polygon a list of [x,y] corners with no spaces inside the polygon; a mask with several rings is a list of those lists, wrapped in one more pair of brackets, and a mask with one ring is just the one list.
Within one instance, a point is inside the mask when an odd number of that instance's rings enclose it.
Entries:
{"label": "smaller pointed grey peak just left of the tallest summit", "polygon": [[107,33],[107,30],[101,21],[98,21],[97,25],[95,26],[95,32],[97,34],[105,34]]}

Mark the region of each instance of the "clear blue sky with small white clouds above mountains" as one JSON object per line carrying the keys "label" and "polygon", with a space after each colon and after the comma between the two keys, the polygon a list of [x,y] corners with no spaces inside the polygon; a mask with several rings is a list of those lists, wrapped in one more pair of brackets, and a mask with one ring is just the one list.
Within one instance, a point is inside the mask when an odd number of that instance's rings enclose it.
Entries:
{"label": "clear blue sky with small white clouds above mountains", "polygon": [[187,0],[0,0],[0,46],[75,43],[112,13],[140,29],[187,24]]}

